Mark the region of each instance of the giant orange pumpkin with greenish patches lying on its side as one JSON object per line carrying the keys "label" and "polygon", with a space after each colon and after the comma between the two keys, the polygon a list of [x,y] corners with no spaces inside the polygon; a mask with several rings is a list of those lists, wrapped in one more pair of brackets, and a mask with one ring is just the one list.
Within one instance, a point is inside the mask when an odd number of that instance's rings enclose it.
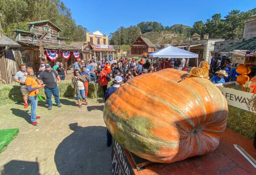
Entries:
{"label": "giant orange pumpkin with greenish patches lying on its side", "polygon": [[227,123],[227,101],[206,78],[163,69],[134,77],[106,101],[113,138],[149,161],[170,163],[214,151]]}

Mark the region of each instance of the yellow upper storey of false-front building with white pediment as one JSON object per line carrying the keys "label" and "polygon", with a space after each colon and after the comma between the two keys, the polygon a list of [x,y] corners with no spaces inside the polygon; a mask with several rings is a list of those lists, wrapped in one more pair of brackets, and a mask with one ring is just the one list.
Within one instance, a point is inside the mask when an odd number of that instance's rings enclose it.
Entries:
{"label": "yellow upper storey of false-front building with white pediment", "polygon": [[86,41],[89,41],[90,44],[102,44],[108,45],[108,35],[102,34],[98,30],[90,34],[86,32]]}

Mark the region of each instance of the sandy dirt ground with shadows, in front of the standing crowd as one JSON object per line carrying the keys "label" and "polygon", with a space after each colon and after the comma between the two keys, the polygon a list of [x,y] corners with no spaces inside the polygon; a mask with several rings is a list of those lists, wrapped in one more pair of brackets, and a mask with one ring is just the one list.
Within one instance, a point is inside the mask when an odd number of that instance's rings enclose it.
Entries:
{"label": "sandy dirt ground with shadows, in front of the standing crowd", "polygon": [[37,109],[40,126],[32,126],[30,108],[23,104],[0,106],[0,129],[20,133],[0,154],[3,175],[109,175],[111,148],[106,146],[102,118],[104,103],[89,100],[80,109],[74,98],[61,98],[62,107]]}

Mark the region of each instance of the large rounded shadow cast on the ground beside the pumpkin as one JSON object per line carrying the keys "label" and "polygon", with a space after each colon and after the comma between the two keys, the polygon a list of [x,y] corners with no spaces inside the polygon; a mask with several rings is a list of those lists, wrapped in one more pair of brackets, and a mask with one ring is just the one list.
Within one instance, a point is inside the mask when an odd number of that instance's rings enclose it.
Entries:
{"label": "large rounded shadow cast on the ground beside the pumpkin", "polygon": [[69,126],[74,132],[55,151],[59,174],[111,174],[111,149],[106,146],[106,127],[81,127],[78,123]]}

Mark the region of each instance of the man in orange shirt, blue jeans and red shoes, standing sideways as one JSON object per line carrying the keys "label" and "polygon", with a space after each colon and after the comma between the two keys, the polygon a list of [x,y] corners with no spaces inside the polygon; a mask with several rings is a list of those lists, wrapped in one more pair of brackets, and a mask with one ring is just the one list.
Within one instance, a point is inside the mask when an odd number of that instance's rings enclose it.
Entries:
{"label": "man in orange shirt, blue jeans and red shoes, standing sideways", "polygon": [[27,86],[27,89],[29,91],[29,100],[31,101],[31,122],[33,126],[39,126],[39,124],[37,123],[36,119],[39,119],[39,116],[36,116],[35,112],[37,109],[37,105],[38,105],[38,92],[39,92],[39,88],[44,87],[45,85],[42,83],[40,85],[38,85],[35,81],[34,78],[34,71],[31,67],[27,68],[27,77],[26,77],[26,81],[25,81],[25,85]]}

